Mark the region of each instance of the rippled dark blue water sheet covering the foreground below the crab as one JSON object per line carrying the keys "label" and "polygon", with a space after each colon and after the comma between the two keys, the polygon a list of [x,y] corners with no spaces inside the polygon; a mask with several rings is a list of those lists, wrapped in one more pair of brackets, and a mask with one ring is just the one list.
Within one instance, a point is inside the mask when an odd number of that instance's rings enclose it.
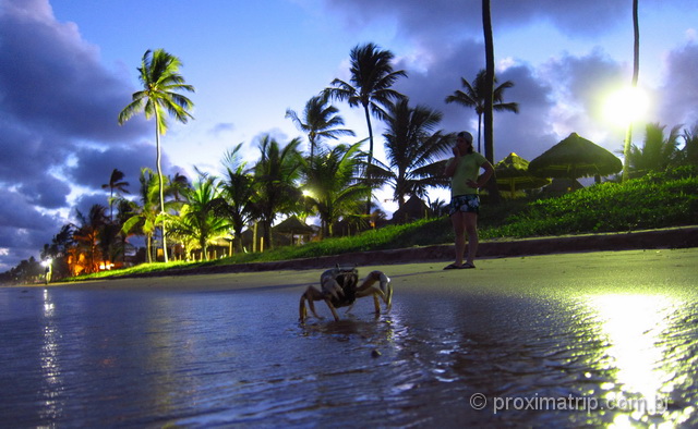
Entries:
{"label": "rippled dark blue water sheet covering the foreground below the crab", "polygon": [[[396,294],[299,324],[302,287],[0,289],[2,422],[19,426],[695,425],[695,301]],[[362,305],[365,304],[365,305]],[[320,309],[320,308],[318,308]],[[325,310],[323,312],[323,310]],[[329,316],[326,308],[321,314]],[[493,414],[469,399],[670,399]]]}

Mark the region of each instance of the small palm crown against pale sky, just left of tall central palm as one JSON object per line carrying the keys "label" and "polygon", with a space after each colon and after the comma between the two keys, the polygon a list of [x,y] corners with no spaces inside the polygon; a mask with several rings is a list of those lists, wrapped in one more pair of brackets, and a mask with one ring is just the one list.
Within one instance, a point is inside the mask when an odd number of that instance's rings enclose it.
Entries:
{"label": "small palm crown against pale sky, just left of tall central palm", "polygon": [[[345,120],[339,115],[339,110],[328,105],[327,95],[320,95],[311,98],[305,103],[303,110],[303,119],[301,120],[291,109],[286,110],[286,118],[291,121],[304,133],[308,133],[308,142],[310,143],[310,159],[313,159],[315,147],[321,138],[338,138],[342,135],[353,136],[353,131],[339,128],[345,124]],[[304,121],[304,122],[303,122]]]}

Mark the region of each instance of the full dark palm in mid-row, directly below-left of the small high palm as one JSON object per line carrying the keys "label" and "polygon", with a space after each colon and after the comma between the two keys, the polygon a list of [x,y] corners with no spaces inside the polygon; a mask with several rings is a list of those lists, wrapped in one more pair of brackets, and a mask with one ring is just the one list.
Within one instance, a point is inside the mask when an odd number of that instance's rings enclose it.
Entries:
{"label": "full dark palm in mid-row, directly below-left of the small high palm", "polygon": [[256,207],[264,226],[264,242],[274,248],[272,224],[280,213],[292,212],[301,200],[296,186],[302,157],[298,152],[301,140],[292,139],[285,147],[269,135],[260,140],[261,159],[254,166]]}

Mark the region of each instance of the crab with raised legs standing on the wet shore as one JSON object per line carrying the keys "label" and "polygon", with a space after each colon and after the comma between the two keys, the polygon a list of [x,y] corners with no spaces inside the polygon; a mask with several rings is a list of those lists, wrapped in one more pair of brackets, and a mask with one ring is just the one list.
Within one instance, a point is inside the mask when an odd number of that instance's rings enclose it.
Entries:
{"label": "crab with raised legs standing on the wet shore", "polygon": [[[376,282],[378,287],[374,286]],[[299,307],[300,321],[304,321],[308,318],[308,310],[305,309],[305,302],[312,311],[313,316],[318,319],[322,317],[315,312],[314,301],[324,301],[327,303],[327,307],[335,317],[335,320],[339,320],[336,308],[349,307],[346,312],[349,312],[353,307],[357,298],[373,295],[373,304],[375,306],[375,314],[381,314],[381,304],[378,297],[385,303],[385,310],[388,311],[393,305],[393,286],[390,285],[390,278],[385,275],[382,271],[371,271],[369,275],[363,280],[361,285],[359,284],[359,270],[357,267],[340,267],[337,265],[322,273],[320,277],[320,284],[322,290],[317,290],[315,286],[308,286],[305,292],[301,295],[301,302]]]}

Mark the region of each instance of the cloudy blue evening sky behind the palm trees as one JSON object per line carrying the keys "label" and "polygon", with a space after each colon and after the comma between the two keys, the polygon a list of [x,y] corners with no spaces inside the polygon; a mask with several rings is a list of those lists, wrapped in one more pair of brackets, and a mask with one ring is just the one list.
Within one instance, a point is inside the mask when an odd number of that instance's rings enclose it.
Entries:
{"label": "cloudy blue evening sky behind the palm trees", "polygon": [[[623,128],[601,106],[630,79],[630,4],[492,1],[497,76],[520,105],[495,114],[496,160],[533,159],[571,132],[621,149]],[[698,122],[697,23],[695,0],[640,0],[647,120],[667,130]],[[473,112],[444,98],[484,65],[479,0],[0,0],[0,271],[37,257],[75,207],[106,204],[112,169],[135,189],[140,169],[154,167],[154,124],[117,125],[146,49],[179,57],[196,88],[195,120],[163,139],[167,172],[193,179],[238,143],[254,161],[258,136],[302,136],[286,109],[301,112],[348,78],[349,51],[369,41],[395,53],[409,76],[396,88],[441,110],[445,131],[477,130]],[[337,107],[364,138],[362,112]]]}

